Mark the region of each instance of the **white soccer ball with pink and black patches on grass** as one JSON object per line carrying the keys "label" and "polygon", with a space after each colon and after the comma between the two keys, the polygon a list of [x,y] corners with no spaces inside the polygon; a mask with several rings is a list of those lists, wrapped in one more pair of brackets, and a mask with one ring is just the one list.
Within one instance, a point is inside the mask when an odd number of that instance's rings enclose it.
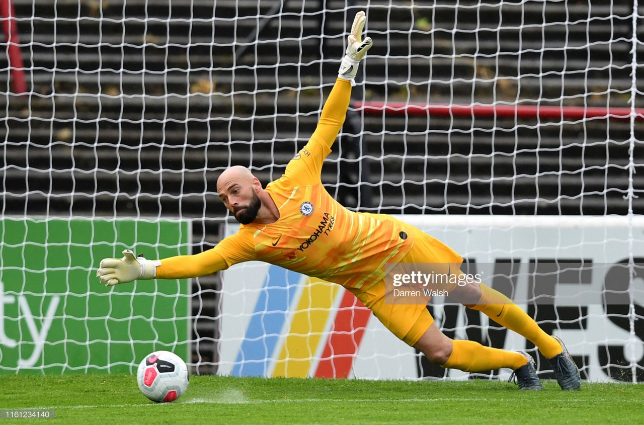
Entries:
{"label": "white soccer ball with pink and black patches on grass", "polygon": [[138,365],[138,388],[156,402],[175,401],[188,388],[188,368],[178,355],[155,351]]}

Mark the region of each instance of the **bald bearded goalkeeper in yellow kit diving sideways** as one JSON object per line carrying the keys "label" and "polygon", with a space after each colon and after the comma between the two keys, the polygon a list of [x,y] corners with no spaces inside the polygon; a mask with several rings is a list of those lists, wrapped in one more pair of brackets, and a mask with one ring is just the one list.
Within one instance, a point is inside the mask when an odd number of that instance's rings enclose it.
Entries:
{"label": "bald bearded goalkeeper in yellow kit diving sideways", "polygon": [[[480,372],[510,368],[522,390],[540,390],[535,362],[526,353],[456,341],[440,332],[425,305],[385,303],[386,263],[455,265],[462,258],[415,227],[384,214],[352,212],[332,198],[321,183],[321,169],[345,120],[358,64],[372,46],[363,39],[365,13],[359,12],[319,124],[305,147],[290,160],[281,178],[263,188],[240,166],[226,169],[217,191],[227,209],[242,223],[240,230],[213,249],[163,260],[123,258],[100,262],[97,276],[107,286],[135,279],[180,279],[204,276],[242,261],[260,260],[343,285],[370,308],[393,334],[444,368]],[[461,278],[462,276],[458,276]],[[534,343],[547,359],[564,390],[578,390],[580,376],[562,341],[547,335],[513,301],[482,283],[455,288],[455,299],[478,300],[480,310],[500,325]]]}

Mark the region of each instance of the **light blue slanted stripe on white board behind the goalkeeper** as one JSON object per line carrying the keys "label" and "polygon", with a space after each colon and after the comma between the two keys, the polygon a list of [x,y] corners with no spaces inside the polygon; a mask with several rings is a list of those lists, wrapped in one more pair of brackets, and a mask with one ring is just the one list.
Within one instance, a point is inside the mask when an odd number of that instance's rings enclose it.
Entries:
{"label": "light blue slanted stripe on white board behind the goalkeeper", "polygon": [[301,274],[270,265],[232,376],[267,376]]}

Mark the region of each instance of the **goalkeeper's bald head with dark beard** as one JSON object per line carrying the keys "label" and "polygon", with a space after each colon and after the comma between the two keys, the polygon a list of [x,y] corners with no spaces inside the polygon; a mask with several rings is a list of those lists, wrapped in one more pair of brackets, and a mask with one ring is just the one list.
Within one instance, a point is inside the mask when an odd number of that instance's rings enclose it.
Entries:
{"label": "goalkeeper's bald head with dark beard", "polygon": [[241,165],[225,169],[217,179],[219,198],[242,224],[249,224],[257,217],[261,207],[260,191],[260,180]]}

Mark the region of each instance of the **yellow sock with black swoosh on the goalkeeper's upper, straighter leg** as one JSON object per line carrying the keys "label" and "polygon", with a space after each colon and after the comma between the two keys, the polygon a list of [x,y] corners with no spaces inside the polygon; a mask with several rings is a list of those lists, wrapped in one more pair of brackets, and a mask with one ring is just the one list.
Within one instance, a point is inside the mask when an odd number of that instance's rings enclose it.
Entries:
{"label": "yellow sock with black swoosh on the goalkeeper's upper, straighter leg", "polygon": [[536,345],[547,359],[561,354],[562,346],[559,342],[546,334],[533,318],[528,316],[511,299],[483,283],[480,284],[480,287],[482,295],[478,304],[468,306],[469,308],[483,312],[499,325],[522,335]]}

